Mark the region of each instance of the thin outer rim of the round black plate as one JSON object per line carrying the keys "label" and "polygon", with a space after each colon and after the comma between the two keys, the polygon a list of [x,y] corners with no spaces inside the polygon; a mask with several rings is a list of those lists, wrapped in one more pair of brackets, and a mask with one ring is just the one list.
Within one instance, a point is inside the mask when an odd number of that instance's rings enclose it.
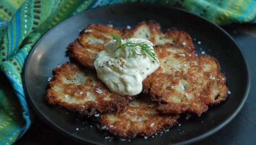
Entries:
{"label": "thin outer rim of the round black plate", "polygon": [[[61,23],[64,23],[66,22],[67,20],[69,19],[72,19],[73,17],[77,16],[77,15],[83,15],[84,13],[87,13],[89,11],[92,11],[92,10],[95,10],[95,9],[100,9],[100,8],[104,8],[104,7],[112,7],[112,6],[122,6],[122,5],[144,5],[144,6],[147,6],[147,5],[150,5],[150,6],[156,6],[156,7],[163,7],[164,9],[175,9],[175,10],[178,10],[178,11],[183,11],[183,12],[186,12],[190,15],[193,15],[194,17],[198,17],[200,19],[203,19],[206,23],[208,23],[209,25],[212,25],[214,27],[217,27],[218,29],[220,29],[222,32],[224,32],[225,35],[227,35],[232,41],[233,43],[237,46],[237,48],[239,49],[240,53],[242,54],[242,58],[244,59],[245,63],[246,63],[246,70],[247,70],[247,86],[246,86],[246,90],[245,90],[245,93],[242,97],[242,101],[240,101],[239,105],[237,106],[237,108],[233,111],[233,113],[227,118],[225,119],[222,123],[220,123],[219,125],[217,125],[215,128],[209,130],[208,132],[202,134],[202,135],[199,135],[199,136],[196,136],[194,138],[191,138],[189,140],[186,140],[186,141],[183,141],[183,142],[179,142],[179,143],[174,143],[173,145],[183,145],[183,144],[189,144],[189,143],[194,143],[194,142],[198,142],[199,140],[202,140],[210,135],[213,135],[214,133],[216,133],[217,131],[219,131],[221,128],[223,128],[224,126],[226,126],[228,123],[230,123],[234,118],[235,116],[237,116],[237,114],[240,112],[240,110],[242,109],[242,107],[244,106],[245,102],[246,102],[246,99],[248,97],[248,94],[249,94],[249,90],[250,90],[250,87],[251,87],[251,70],[250,70],[250,67],[249,67],[249,63],[244,55],[244,52],[242,51],[242,49],[240,48],[240,46],[235,42],[235,40],[232,38],[232,36],[230,36],[230,34],[228,34],[223,28],[221,28],[220,26],[214,24],[213,22],[211,22],[210,20],[200,16],[200,15],[196,15],[196,14],[193,14],[192,12],[188,11],[188,10],[185,10],[185,9],[181,9],[181,8],[178,8],[178,7],[173,7],[173,6],[167,6],[167,5],[162,5],[162,4],[159,4],[159,3],[147,3],[147,2],[127,2],[127,3],[116,3],[116,4],[112,4],[112,5],[105,5],[105,6],[101,6],[101,7],[95,7],[95,8],[90,8],[90,9],[87,9],[87,10],[84,10],[83,12],[80,12],[76,15],[73,15],[71,17],[68,17],[67,19],[63,20],[62,22],[60,22],[59,24]],[[33,108],[33,110],[36,112],[36,114],[43,120],[45,121],[45,123],[47,123],[47,125],[51,126],[52,128],[54,128],[54,130],[58,131],[59,133],[61,133],[62,135],[64,136],[67,136],[68,138],[70,139],[73,139],[77,142],[80,142],[80,143],[92,143],[92,144],[97,144],[97,145],[101,145],[101,143],[98,143],[98,142],[93,142],[91,140],[87,140],[85,138],[81,138],[79,136],[76,136],[76,135],[73,135],[72,133],[69,133],[68,131],[62,129],[60,126],[58,126],[57,124],[53,123],[52,121],[50,121],[48,118],[46,118],[44,116],[43,113],[41,113],[40,109],[38,109],[38,107],[36,106],[35,102],[33,102],[33,99],[30,97],[29,95],[29,92],[28,92],[28,89],[27,89],[27,83],[26,83],[26,79],[25,79],[25,75],[28,71],[28,62],[31,58],[31,55],[34,53],[35,51],[35,48],[37,47],[37,45],[42,41],[42,39],[47,36],[48,33],[50,33],[55,27],[57,27],[59,24],[55,25],[54,27],[52,27],[51,29],[49,29],[45,34],[43,34],[43,36],[36,42],[36,44],[33,46],[33,48],[31,49],[31,51],[29,52],[29,55],[28,55],[28,58],[26,59],[26,62],[25,62],[25,65],[24,65],[24,69],[23,69],[23,75],[22,75],[22,80],[23,80],[23,86],[24,86],[24,92],[25,92],[25,96],[27,97],[28,99],[28,102],[30,104],[30,106]]]}

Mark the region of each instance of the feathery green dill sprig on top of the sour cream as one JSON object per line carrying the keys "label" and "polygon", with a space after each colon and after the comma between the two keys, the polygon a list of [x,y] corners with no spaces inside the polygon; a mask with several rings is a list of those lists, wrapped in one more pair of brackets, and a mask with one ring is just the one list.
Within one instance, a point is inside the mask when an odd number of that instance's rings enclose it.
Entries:
{"label": "feathery green dill sprig on top of the sour cream", "polygon": [[[119,48],[128,48],[130,50],[130,52],[133,54],[134,58],[136,58],[136,55],[144,55],[144,57],[147,57],[147,55],[149,55],[150,58],[152,58],[152,60],[156,61],[159,64],[157,55],[156,55],[156,53],[154,53],[154,48],[151,48],[151,45],[149,45],[146,41],[132,42],[132,41],[130,41],[131,38],[128,38],[126,43],[121,44],[121,39],[122,39],[121,35],[116,36],[111,33],[111,36],[119,44],[118,48],[116,48],[114,50],[114,52],[116,52]],[[140,51],[142,54],[137,53],[137,51],[135,50],[136,47],[140,47]],[[129,55],[130,55],[130,53],[129,53]]]}

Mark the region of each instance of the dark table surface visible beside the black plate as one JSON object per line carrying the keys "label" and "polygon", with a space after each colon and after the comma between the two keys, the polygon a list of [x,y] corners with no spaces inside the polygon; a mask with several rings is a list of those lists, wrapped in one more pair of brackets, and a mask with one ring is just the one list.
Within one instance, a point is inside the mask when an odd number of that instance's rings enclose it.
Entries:
{"label": "dark table surface visible beside the black plate", "polygon": [[[256,145],[256,24],[223,27],[239,44],[251,68],[251,89],[240,113],[227,126],[196,144]],[[235,64],[234,64],[235,65]],[[36,117],[28,132],[15,145],[79,144],[52,129]]]}

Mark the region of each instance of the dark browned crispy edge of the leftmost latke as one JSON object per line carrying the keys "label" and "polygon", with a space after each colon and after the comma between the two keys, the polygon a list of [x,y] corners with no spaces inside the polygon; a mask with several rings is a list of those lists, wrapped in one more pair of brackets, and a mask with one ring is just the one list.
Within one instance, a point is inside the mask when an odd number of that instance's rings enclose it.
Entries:
{"label": "dark browned crispy edge of the leftmost latke", "polygon": [[[93,102],[93,101],[88,101],[85,104],[77,104],[77,103],[68,103],[65,101],[61,101],[61,99],[58,98],[58,96],[56,96],[56,91],[54,89],[52,89],[51,87],[53,87],[57,82],[62,81],[61,77],[62,75],[58,73],[58,71],[62,71],[63,68],[62,67],[72,67],[70,65],[73,65],[76,67],[76,69],[81,69],[81,66],[75,65],[74,63],[64,63],[61,67],[59,68],[55,68],[53,70],[54,73],[54,77],[52,78],[52,80],[50,82],[48,82],[48,89],[45,93],[45,101],[47,101],[48,104],[51,105],[58,105],[61,107],[66,108],[69,111],[73,111],[73,112],[78,112],[82,115],[85,116],[92,116],[93,114],[97,114],[97,113],[111,113],[112,111],[117,111],[120,112],[123,109],[125,109],[125,107],[135,99],[136,96],[123,96],[123,98],[121,98],[120,101],[117,100],[111,100],[111,101],[106,101],[106,104],[104,104],[103,108],[100,105],[97,105],[97,103]],[[69,72],[67,72],[69,73]],[[103,83],[102,83],[103,84]],[[104,85],[104,84],[103,84]],[[116,94],[118,95],[118,94]],[[127,100],[126,98],[128,98],[129,100]]]}

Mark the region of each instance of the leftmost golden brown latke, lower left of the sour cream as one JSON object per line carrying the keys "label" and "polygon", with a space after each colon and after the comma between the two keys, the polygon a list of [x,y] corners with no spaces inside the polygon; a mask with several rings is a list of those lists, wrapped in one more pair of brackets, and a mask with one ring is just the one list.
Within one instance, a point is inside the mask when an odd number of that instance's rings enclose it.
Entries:
{"label": "leftmost golden brown latke, lower left of the sour cream", "polygon": [[121,111],[135,96],[112,93],[94,71],[74,63],[64,63],[54,69],[54,78],[48,83],[45,99],[84,115]]}

